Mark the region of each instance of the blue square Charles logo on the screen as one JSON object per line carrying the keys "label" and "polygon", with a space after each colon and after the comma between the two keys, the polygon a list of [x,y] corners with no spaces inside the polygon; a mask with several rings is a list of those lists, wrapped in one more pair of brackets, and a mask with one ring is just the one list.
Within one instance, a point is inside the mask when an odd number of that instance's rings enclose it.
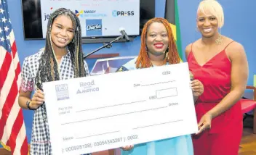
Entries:
{"label": "blue square Charles logo on the screen", "polygon": [[87,36],[98,36],[103,33],[103,24],[101,19],[86,20],[86,32]]}

